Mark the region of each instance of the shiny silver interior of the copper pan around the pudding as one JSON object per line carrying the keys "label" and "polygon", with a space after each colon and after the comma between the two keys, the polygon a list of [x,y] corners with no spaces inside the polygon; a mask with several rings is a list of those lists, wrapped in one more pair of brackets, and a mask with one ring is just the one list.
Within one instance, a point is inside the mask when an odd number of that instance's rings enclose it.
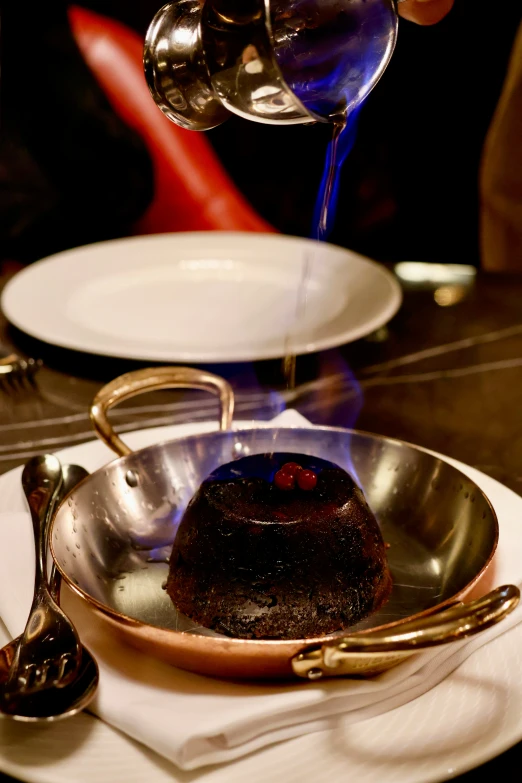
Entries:
{"label": "shiny silver interior of the copper pan around the pudding", "polygon": [[381,525],[393,592],[356,630],[399,621],[461,594],[493,555],[498,526],[487,498],[428,452],[342,429],[258,428],[159,444],[94,473],[55,517],[51,541],[58,567],[81,592],[118,613],[216,635],[179,615],[163,589],[176,528],[214,468],[271,451],[311,454],[346,468]]}

